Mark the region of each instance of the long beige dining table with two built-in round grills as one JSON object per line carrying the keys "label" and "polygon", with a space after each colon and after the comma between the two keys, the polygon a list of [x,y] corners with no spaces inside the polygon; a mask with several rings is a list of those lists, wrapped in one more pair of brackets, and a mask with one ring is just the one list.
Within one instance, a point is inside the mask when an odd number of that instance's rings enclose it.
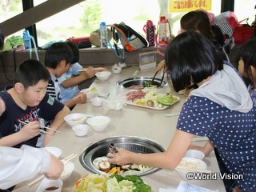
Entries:
{"label": "long beige dining table with two built-in round grills", "polygon": [[[111,68],[107,69],[111,71]],[[112,73],[107,81],[100,81],[96,78],[90,85],[90,88],[95,87],[98,90],[98,94],[108,95],[106,98],[107,101],[113,101],[115,98],[126,94],[128,91],[126,88],[118,87],[118,81],[126,78],[152,78],[154,76],[154,72],[155,68],[140,70],[138,65],[130,66],[123,68],[120,74]],[[162,78],[162,74],[163,72],[159,72],[156,78]],[[167,81],[166,78],[165,81]],[[186,98],[181,94],[177,94],[170,86],[170,83],[158,89],[158,92],[174,94],[180,99],[178,102],[174,103],[174,105],[171,105],[164,110],[152,110],[126,104],[122,105],[121,110],[115,110],[109,109],[105,106],[92,106],[90,101],[87,101],[85,104],[79,104],[74,107],[71,113],[83,113],[94,116],[106,115],[110,117],[111,122],[109,126],[107,126],[106,130],[97,132],[90,128],[86,136],[77,137],[74,135],[72,128],[64,123],[59,128],[61,133],[55,134],[47,146],[56,146],[62,149],[62,155],[60,158],[65,158],[70,154],[78,154],[79,156],[86,148],[86,146],[102,139],[111,138],[114,136],[135,136],[153,140],[166,149],[169,146],[172,137],[174,136],[176,123],[178,121],[178,115],[168,116],[166,114],[177,114],[180,112],[182,109],[182,104],[186,102]],[[206,141],[196,141],[193,142],[193,144],[202,146],[205,144],[205,142]],[[220,173],[214,151],[209,156],[203,158],[203,161],[206,162],[208,166],[207,169],[211,170],[212,173],[216,173],[217,175]],[[78,179],[82,178],[82,176],[85,174],[90,173],[82,166],[79,158],[75,158],[73,162],[75,164],[75,170],[73,174],[71,174],[70,178],[64,182],[62,187],[63,192],[72,191],[75,182],[77,182]],[[38,177],[40,176],[41,175],[38,174]],[[28,183],[34,181],[34,179],[18,184],[13,191],[38,191],[40,182],[35,183],[33,186],[28,186]],[[142,176],[142,179],[152,187],[152,191],[154,192],[163,191],[162,189],[175,189],[178,187],[181,181],[189,182],[194,185],[205,187],[214,191],[226,191],[220,177],[207,178],[202,180],[183,180],[176,170],[158,170],[153,174]]]}

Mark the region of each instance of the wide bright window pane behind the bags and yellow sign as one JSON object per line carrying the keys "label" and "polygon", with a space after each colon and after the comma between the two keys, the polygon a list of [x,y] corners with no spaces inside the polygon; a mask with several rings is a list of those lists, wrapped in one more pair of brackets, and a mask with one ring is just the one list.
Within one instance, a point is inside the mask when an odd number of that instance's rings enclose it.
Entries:
{"label": "wide bright window pane behind the bags and yellow sign", "polygon": [[[34,6],[42,2],[45,0],[34,0]],[[87,0],[38,22],[38,45],[70,37],[89,37],[90,32],[98,29],[100,22],[125,22],[134,30],[146,35],[143,31],[146,21],[151,20],[157,27],[160,14],[166,15],[172,34],[177,35],[179,19],[185,13],[168,14],[165,5],[168,5],[168,0]],[[221,0],[212,1],[210,12],[216,15],[220,10]]]}

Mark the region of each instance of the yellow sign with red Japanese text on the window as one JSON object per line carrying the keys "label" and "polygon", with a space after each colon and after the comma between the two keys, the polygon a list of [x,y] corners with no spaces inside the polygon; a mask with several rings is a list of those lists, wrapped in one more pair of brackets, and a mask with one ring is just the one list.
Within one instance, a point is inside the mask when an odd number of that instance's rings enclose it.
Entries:
{"label": "yellow sign with red Japanese text on the window", "polygon": [[169,13],[211,10],[211,0],[169,0]]}

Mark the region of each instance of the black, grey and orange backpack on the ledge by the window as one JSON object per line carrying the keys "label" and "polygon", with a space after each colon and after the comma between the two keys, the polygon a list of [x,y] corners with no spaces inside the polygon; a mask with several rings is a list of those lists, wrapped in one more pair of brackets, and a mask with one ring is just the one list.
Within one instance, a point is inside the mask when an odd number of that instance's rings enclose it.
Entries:
{"label": "black, grey and orange backpack on the ledge by the window", "polygon": [[130,26],[126,26],[124,22],[113,24],[111,31],[113,33],[114,46],[117,46],[120,40],[123,48],[128,52],[149,46],[149,42],[142,34],[139,34]]}

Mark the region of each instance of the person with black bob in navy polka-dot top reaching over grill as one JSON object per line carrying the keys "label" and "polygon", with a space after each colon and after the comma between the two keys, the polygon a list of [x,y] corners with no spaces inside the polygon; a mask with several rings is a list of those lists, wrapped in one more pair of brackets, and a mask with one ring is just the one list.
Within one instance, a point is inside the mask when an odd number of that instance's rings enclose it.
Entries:
{"label": "person with black bob in navy polka-dot top reaching over grill", "polygon": [[197,84],[182,106],[177,130],[163,153],[137,154],[124,149],[108,154],[110,162],[174,169],[194,135],[207,136],[206,155],[218,150],[226,174],[242,175],[230,191],[256,191],[256,106],[238,71],[224,62],[209,39],[198,32],[179,34],[166,48],[166,66],[174,90]]}

